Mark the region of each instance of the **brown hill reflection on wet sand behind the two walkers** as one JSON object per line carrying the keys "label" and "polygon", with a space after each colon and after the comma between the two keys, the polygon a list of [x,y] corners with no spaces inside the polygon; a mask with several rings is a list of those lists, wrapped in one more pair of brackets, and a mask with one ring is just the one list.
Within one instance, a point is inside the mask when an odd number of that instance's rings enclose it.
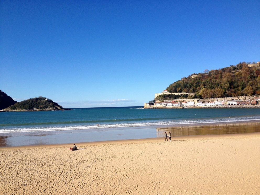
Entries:
{"label": "brown hill reflection on wet sand behind the two walkers", "polygon": [[156,128],[157,137],[164,137],[164,132],[171,132],[176,136],[221,135],[234,133],[260,132],[260,122],[236,123],[236,124],[212,124],[207,126],[183,126]]}

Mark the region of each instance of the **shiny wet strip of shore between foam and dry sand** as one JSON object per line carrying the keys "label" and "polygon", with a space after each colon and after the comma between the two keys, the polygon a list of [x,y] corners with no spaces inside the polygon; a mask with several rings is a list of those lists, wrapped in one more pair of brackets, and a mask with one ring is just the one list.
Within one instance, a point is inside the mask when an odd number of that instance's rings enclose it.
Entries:
{"label": "shiny wet strip of shore between foam and dry sand", "polygon": [[179,136],[255,133],[260,132],[260,122],[181,127],[100,128],[96,131],[85,129],[80,131],[62,131],[62,133],[48,131],[45,133],[39,132],[38,134],[1,136],[0,147],[144,138],[162,138],[164,140],[164,132],[168,134],[169,131],[172,139]]}

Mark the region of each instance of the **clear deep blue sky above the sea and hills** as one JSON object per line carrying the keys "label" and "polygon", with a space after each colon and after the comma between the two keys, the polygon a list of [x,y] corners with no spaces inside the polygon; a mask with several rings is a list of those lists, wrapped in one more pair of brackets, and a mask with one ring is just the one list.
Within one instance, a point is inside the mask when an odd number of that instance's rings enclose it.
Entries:
{"label": "clear deep blue sky above the sea and hills", "polygon": [[260,1],[0,1],[0,89],[142,106],[205,69],[260,61]]}

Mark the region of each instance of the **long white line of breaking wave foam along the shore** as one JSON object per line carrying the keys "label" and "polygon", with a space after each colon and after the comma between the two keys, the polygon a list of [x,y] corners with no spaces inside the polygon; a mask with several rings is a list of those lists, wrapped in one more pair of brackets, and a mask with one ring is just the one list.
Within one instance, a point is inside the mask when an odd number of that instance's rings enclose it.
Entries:
{"label": "long white line of breaking wave foam along the shore", "polygon": [[67,125],[67,126],[52,126],[52,127],[26,127],[26,128],[3,128],[1,133],[15,132],[40,132],[40,131],[64,131],[64,130],[80,130],[80,129],[97,129],[97,128],[116,128],[116,127],[142,127],[142,126],[163,126],[163,125],[182,125],[182,124],[201,124],[201,123],[219,123],[219,122],[240,122],[260,120],[260,116],[255,117],[240,117],[240,118],[217,118],[217,119],[202,119],[202,120],[184,120],[184,121],[149,121],[149,122],[132,122],[132,123],[113,123],[113,124],[96,124],[86,125]]}

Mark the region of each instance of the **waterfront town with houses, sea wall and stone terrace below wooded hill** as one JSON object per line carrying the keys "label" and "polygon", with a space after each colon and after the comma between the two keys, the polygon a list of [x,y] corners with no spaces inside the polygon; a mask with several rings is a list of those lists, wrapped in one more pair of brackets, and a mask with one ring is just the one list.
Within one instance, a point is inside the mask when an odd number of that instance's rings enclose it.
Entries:
{"label": "waterfront town with houses, sea wall and stone terrace below wooded hill", "polygon": [[[156,93],[155,97],[163,94],[185,95],[186,93],[169,93],[164,90]],[[191,96],[192,94],[187,94]],[[260,97],[239,96],[212,99],[178,99],[178,100],[152,100],[144,103],[144,108],[238,108],[238,107],[260,107]]]}

